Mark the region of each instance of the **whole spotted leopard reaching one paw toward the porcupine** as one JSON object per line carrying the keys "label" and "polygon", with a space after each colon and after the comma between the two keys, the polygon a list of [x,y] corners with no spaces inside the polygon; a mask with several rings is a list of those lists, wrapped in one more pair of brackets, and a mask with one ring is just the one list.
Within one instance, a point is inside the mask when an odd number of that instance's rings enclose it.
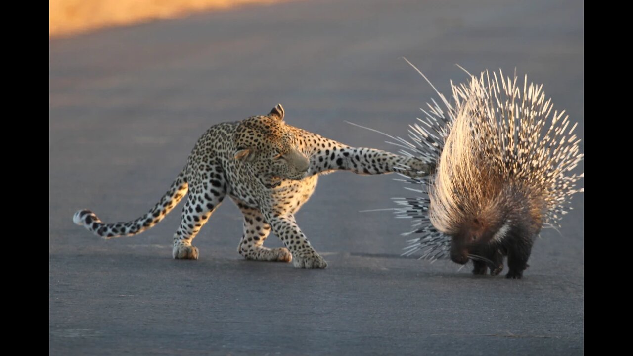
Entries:
{"label": "whole spotted leopard reaching one paw toward the porcupine", "polygon": [[[156,226],[187,196],[172,257],[197,260],[192,241],[226,196],[244,215],[237,247],[247,260],[292,262],[299,269],[325,269],[327,262],[299,228],[295,214],[316,188],[319,175],[336,170],[356,174],[399,172],[428,175],[434,167],[413,156],[354,148],[286,124],[282,105],[268,115],[212,125],[198,139],[169,190],[149,212],[127,222],[106,224],[91,210],[73,222],[104,239],[134,236]],[[284,247],[263,246],[273,232]]]}

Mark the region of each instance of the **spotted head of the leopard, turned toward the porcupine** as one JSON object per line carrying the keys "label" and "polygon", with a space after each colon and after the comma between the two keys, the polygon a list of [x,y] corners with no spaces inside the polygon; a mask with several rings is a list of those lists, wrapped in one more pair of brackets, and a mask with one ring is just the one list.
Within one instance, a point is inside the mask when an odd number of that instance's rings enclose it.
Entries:
{"label": "spotted head of the leopard, turned toward the porcupine", "polygon": [[308,175],[310,161],[298,150],[298,138],[285,124],[281,104],[266,116],[242,121],[235,146],[235,160],[250,165],[266,188],[274,188],[284,179],[300,181]]}

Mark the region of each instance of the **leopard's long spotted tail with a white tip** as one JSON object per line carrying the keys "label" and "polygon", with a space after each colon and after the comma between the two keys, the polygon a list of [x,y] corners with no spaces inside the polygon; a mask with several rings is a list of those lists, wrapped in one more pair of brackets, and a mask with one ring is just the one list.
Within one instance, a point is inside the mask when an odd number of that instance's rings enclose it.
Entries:
{"label": "leopard's long spotted tail with a white tip", "polygon": [[140,234],[147,229],[151,229],[154,225],[163,220],[165,216],[178,205],[180,200],[187,194],[189,184],[185,177],[185,171],[180,172],[167,193],[154,205],[149,212],[141,217],[128,222],[117,222],[115,224],[106,224],[97,217],[91,210],[78,210],[73,215],[73,222],[92,231],[97,236],[105,239],[120,238],[122,236],[134,236]]}

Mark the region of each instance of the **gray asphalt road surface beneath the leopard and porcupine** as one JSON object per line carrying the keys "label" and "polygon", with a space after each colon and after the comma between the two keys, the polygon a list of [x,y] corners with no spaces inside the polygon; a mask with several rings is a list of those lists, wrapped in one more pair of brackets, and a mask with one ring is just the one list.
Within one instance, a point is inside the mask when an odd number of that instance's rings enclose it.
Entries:
{"label": "gray asphalt road surface beneath the leopard and porcupine", "polygon": [[[410,194],[393,175],[325,175],[298,214],[327,270],[247,262],[226,201],[172,260],[180,213],[134,238],[72,224],[153,205],[210,125],[267,113],[354,146],[394,150],[449,80],[502,68],[544,84],[583,135],[579,1],[304,1],[50,41],[51,355],[578,355],[584,351],[583,196],[542,232],[522,281],[401,258]],[[581,167],[582,168],[582,167]],[[268,246],[280,246],[273,236]]]}

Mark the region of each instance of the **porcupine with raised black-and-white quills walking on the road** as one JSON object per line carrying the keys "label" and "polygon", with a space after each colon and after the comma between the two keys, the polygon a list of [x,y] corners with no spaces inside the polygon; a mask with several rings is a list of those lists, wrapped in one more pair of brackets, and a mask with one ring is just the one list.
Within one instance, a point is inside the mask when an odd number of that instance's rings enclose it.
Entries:
{"label": "porcupine with raised black-and-white quills walking on the road", "polygon": [[473,274],[489,268],[493,276],[507,256],[506,277],[519,279],[541,228],[560,227],[570,198],[583,191],[576,186],[583,174],[572,173],[583,156],[572,133],[577,124],[570,127],[565,111],[551,115],[551,99],[527,75],[522,86],[501,70],[499,77],[486,71],[465,84],[451,81],[452,104],[433,89],[444,108],[433,100],[422,109],[425,118],[410,126],[412,142],[392,137],[401,153],[437,166],[405,180],[420,186],[408,188],[420,196],[394,198],[396,217],[415,219],[403,235],[423,235],[409,240],[403,255],[472,260]]}

